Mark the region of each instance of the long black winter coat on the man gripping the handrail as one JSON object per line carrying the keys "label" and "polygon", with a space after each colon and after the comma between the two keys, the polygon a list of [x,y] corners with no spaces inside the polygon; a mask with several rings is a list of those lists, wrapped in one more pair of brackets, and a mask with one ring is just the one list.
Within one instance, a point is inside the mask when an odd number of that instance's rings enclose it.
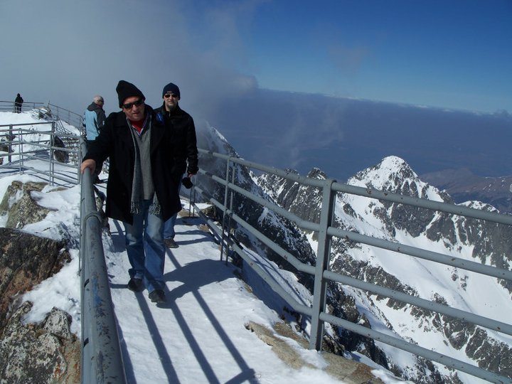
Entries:
{"label": "long black winter coat on the man gripping the handrail", "polygon": [[[171,156],[169,151],[174,145],[174,137],[172,132],[156,119],[149,105],[146,105],[145,113],[151,114],[151,176],[163,218],[167,220],[181,210],[178,183],[176,176],[172,174],[175,167],[174,156]],[[110,157],[105,213],[110,218],[132,224],[130,200],[135,158],[130,129],[132,128],[129,127],[124,112],[111,113],[95,141],[90,142],[84,160],[93,159],[99,164]]]}

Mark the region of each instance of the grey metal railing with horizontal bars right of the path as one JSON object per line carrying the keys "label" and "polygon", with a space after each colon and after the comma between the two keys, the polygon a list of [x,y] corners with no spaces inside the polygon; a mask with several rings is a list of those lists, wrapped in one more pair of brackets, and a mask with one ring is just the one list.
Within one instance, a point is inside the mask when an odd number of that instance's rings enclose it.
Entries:
{"label": "grey metal railing with horizontal bars right of the path", "polygon": [[[371,188],[350,186],[347,184],[337,183],[332,179],[319,180],[315,178],[306,178],[304,176],[292,174],[287,171],[282,171],[279,169],[274,169],[272,167],[263,166],[262,164],[257,164],[251,161],[245,161],[238,157],[218,154],[212,151],[206,151],[204,149],[199,149],[199,152],[201,154],[212,156],[213,158],[216,159],[223,159],[224,161],[226,161],[226,172],[225,175],[223,176],[210,174],[209,172],[204,171],[203,169],[200,169],[199,171],[199,174],[208,177],[210,180],[215,181],[215,183],[218,183],[220,184],[220,186],[223,186],[225,188],[223,203],[218,201],[217,198],[215,198],[215,196],[211,196],[211,194],[208,193],[208,191],[204,191],[198,186],[195,187],[195,190],[198,193],[200,193],[201,196],[203,196],[203,198],[206,198],[206,200],[210,201],[210,203],[212,203],[213,206],[218,208],[218,210],[220,210],[220,212],[223,213],[222,228],[218,228],[218,226],[215,225],[215,223],[213,223],[212,220],[206,218],[206,216],[203,215],[200,212],[200,210],[198,210],[198,213],[207,220],[208,225],[210,226],[210,228],[213,229],[215,235],[217,235],[217,237],[223,241],[223,244],[224,242],[226,242],[226,244],[229,245],[238,256],[242,257],[242,259],[244,259],[247,262],[247,266],[255,270],[255,272],[260,277],[262,277],[262,279],[264,279],[268,284],[270,284],[270,287],[274,290],[274,292],[279,294],[279,296],[282,297],[282,299],[284,299],[287,302],[287,304],[289,304],[289,306],[292,307],[292,309],[299,313],[306,314],[307,316],[311,316],[311,335],[309,341],[309,347],[311,349],[314,348],[316,350],[321,350],[321,343],[324,334],[324,322],[327,321],[330,324],[341,326],[344,329],[355,332],[356,334],[368,336],[369,338],[373,338],[376,341],[386,343],[390,346],[395,346],[396,348],[400,348],[404,351],[414,353],[417,356],[422,356],[424,358],[430,359],[431,361],[436,361],[437,363],[441,363],[449,368],[454,368],[462,372],[469,373],[469,375],[474,375],[478,378],[489,380],[492,383],[512,383],[511,378],[504,377],[503,375],[499,375],[498,373],[494,373],[489,370],[479,368],[478,366],[473,366],[464,361],[459,361],[455,358],[443,355],[442,353],[430,351],[429,349],[423,348],[422,346],[418,346],[414,343],[408,343],[407,341],[404,341],[401,338],[389,336],[388,334],[383,334],[382,332],[374,331],[373,329],[368,329],[365,326],[359,324],[353,324],[350,321],[346,321],[345,319],[332,316],[331,314],[328,314],[326,312],[326,283],[331,281],[338,282],[340,284],[347,284],[358,289],[363,289],[368,292],[373,292],[375,294],[380,294],[385,297],[393,298],[400,302],[412,304],[423,309],[428,309],[429,311],[435,311],[439,314],[446,314],[448,316],[452,316],[453,318],[461,319],[471,324],[479,325],[487,329],[492,329],[503,334],[512,335],[511,324],[506,324],[501,321],[496,321],[494,319],[489,319],[484,316],[472,314],[468,311],[455,309],[452,308],[451,306],[439,304],[437,302],[431,302],[426,299],[421,299],[420,297],[415,297],[410,294],[405,294],[402,292],[395,291],[393,289],[388,289],[377,284],[364,282],[358,279],[354,279],[353,277],[338,274],[336,272],[332,272],[331,270],[329,270],[331,238],[344,238],[347,240],[351,240],[353,242],[364,243],[367,245],[372,245],[374,247],[380,247],[386,250],[393,250],[395,252],[400,252],[405,255],[411,255],[413,257],[418,257],[425,260],[432,260],[434,262],[442,263],[444,265],[451,265],[457,268],[473,271],[479,274],[485,274],[491,277],[498,277],[499,279],[506,279],[508,281],[512,281],[512,272],[510,270],[503,270],[500,268],[491,267],[489,265],[482,265],[478,262],[471,262],[468,260],[454,257],[452,255],[444,255],[438,252],[423,250],[417,247],[410,247],[407,245],[402,245],[398,242],[390,242],[387,240],[373,238],[371,236],[361,235],[360,233],[341,230],[339,228],[333,227],[332,225],[334,219],[334,204],[336,193],[338,192],[351,193],[358,196],[365,196],[367,198],[375,198],[380,201],[401,203],[408,206],[427,208],[430,210],[437,210],[444,213],[452,213],[454,215],[462,215],[468,218],[487,220],[493,223],[501,223],[506,225],[512,225],[512,215],[502,215],[499,213],[478,210],[465,206],[455,206],[454,204],[450,203],[430,201],[425,198],[413,198],[410,196],[402,196],[398,193],[390,193],[386,191],[378,191]],[[237,166],[245,166],[248,169],[257,169],[258,171],[263,171],[266,172],[267,174],[281,176],[282,178],[285,178],[289,181],[294,181],[304,186],[313,186],[319,188],[323,196],[319,223],[313,223],[308,220],[303,220],[302,218],[299,218],[297,215],[290,213],[288,210],[280,206],[277,206],[276,204],[270,201],[267,201],[265,198],[255,196],[250,191],[246,191],[245,189],[236,185],[235,168]],[[230,198],[228,198],[228,194]],[[256,228],[252,227],[250,223],[247,223],[244,219],[242,219],[233,208],[234,194],[238,194],[239,196],[248,198],[257,204],[260,204],[260,206],[273,210],[274,213],[277,213],[278,215],[287,218],[291,222],[295,223],[299,228],[316,232],[318,234],[316,266],[306,265],[300,260],[297,260],[297,258],[294,257],[288,250],[284,250],[282,249],[282,247],[279,247],[277,243],[267,238],[265,235],[260,233],[260,231],[258,231]],[[252,262],[250,256],[247,255],[247,253],[244,252],[244,250],[242,250],[242,247],[238,245],[238,242],[232,238],[230,231],[231,228],[230,225],[228,224],[230,223],[231,220],[234,220],[235,223],[240,225],[242,228],[245,228],[245,230],[247,230],[252,235],[255,235],[255,237],[258,240],[260,240],[265,245],[270,247],[270,249],[274,250],[274,252],[277,252],[277,254],[280,257],[282,257],[284,260],[293,265],[293,267],[297,268],[297,270],[314,276],[314,292],[312,306],[306,306],[302,303],[297,302],[296,299],[294,299],[290,294],[288,294],[283,289],[283,287],[280,287],[279,284],[272,277],[270,277],[270,274],[267,274],[267,272],[265,272],[260,267],[258,267],[254,262]],[[222,260],[222,253],[220,257]]]}

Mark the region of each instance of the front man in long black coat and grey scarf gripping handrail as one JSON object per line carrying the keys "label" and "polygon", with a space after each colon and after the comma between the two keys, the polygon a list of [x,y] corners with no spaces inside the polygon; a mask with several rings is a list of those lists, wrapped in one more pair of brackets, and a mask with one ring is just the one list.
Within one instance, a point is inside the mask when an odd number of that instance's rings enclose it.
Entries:
{"label": "front man in long black coat and grey scarf gripping handrail", "polygon": [[135,85],[121,80],[116,91],[122,112],[107,117],[80,170],[92,174],[96,164],[110,157],[105,213],[124,224],[132,266],[128,289],[139,292],[145,285],[151,301],[165,302],[163,225],[181,210],[169,151],[174,137]]}

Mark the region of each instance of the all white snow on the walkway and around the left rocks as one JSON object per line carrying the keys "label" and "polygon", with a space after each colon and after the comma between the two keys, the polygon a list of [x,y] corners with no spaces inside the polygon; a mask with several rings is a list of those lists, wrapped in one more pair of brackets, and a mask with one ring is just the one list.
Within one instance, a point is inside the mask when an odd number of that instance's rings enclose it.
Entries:
{"label": "all white snow on the walkway and around the left rocks", "polygon": [[[14,122],[13,119],[34,120],[28,113],[0,113],[0,124]],[[41,178],[2,173],[1,196],[14,180],[41,181]],[[71,330],[80,336],[80,186],[47,187],[33,196],[51,211],[45,220],[26,225],[23,231],[67,239],[71,261],[23,296],[23,301],[34,303],[25,321],[42,321],[56,306],[73,317]],[[183,204],[188,207],[185,201]],[[5,220],[0,224],[5,225]],[[249,321],[269,329],[280,321],[280,314],[266,304],[275,298],[255,296],[236,277],[236,268],[220,261],[218,244],[201,224],[198,218],[178,218],[175,239],[180,246],[166,251],[167,303],[160,306],[151,303],[146,291],[135,294],[126,287],[129,262],[121,223],[110,220],[111,236],[103,235],[128,382],[343,383],[317,369],[326,366],[326,362],[316,351],[304,350],[295,341],[284,338],[305,361],[316,367],[296,370],[279,360],[270,346],[246,329]],[[299,297],[306,297],[306,290],[294,275],[282,274],[279,278],[286,281],[290,293],[300,292]],[[398,382],[381,367],[375,366],[373,372],[385,383]]]}

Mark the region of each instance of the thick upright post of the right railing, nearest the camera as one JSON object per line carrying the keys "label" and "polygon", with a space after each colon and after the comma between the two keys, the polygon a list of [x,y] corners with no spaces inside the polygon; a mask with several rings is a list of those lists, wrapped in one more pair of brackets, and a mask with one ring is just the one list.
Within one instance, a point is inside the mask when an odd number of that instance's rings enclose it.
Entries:
{"label": "thick upright post of the right railing, nearest the camera", "polygon": [[324,321],[320,314],[325,310],[327,284],[324,271],[329,267],[331,253],[331,237],[327,235],[327,228],[332,225],[334,215],[334,199],[336,193],[332,191],[333,179],[327,179],[322,192],[322,208],[320,213],[320,230],[318,234],[318,250],[316,251],[316,267],[313,290],[313,306],[311,315],[311,334],[309,335],[309,349],[321,351],[324,337]]}

